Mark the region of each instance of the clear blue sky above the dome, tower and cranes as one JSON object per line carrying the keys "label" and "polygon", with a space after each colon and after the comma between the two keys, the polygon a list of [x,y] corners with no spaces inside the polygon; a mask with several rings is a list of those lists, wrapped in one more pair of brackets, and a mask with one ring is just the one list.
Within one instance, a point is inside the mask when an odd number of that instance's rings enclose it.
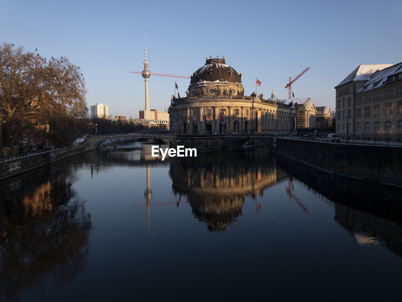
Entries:
{"label": "clear blue sky above the dome, tower and cranes", "polygon": [[[359,64],[402,61],[402,1],[19,1],[0,0],[0,42],[66,56],[84,73],[88,106],[138,118],[144,110],[144,31],[150,72],[190,75],[225,56],[242,72],[246,95],[272,89],[335,109],[335,89]],[[164,110],[174,81],[152,75],[150,109]]]}

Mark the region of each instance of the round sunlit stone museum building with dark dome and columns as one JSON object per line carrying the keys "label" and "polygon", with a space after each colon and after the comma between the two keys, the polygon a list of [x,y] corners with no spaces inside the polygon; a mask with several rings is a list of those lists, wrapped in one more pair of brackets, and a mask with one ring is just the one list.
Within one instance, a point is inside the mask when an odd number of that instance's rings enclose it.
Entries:
{"label": "round sunlit stone museum building with dark dome and columns", "polygon": [[225,58],[207,58],[193,73],[187,96],[169,106],[170,131],[177,134],[290,132],[297,105],[244,95],[242,74]]}

